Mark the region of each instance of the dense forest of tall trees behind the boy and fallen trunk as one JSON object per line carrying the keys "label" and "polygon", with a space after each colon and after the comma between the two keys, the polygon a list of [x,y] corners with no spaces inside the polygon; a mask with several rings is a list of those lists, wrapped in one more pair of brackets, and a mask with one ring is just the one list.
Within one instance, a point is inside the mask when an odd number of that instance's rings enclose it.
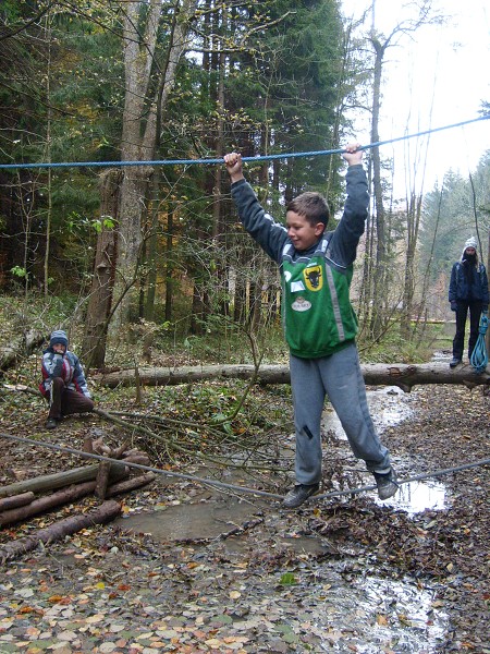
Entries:
{"label": "dense forest of tall trees behind the boy and fallen trunk", "polygon": [[[215,338],[228,356],[244,334],[279,342],[275,266],[241,228],[223,166],[193,161],[260,157],[246,174],[277,219],[305,190],[339,218],[339,154],[286,155],[338,150],[359,114],[370,143],[383,141],[391,48],[448,20],[429,0],[408,4],[380,32],[376,1],[354,23],[338,0],[4,0],[0,292],[22,302],[19,329],[83,325],[88,367],[135,339],[148,359],[159,341]],[[481,119],[489,112],[482,98]],[[365,160],[360,341],[390,339],[409,359],[427,326],[451,317],[449,274],[468,235],[487,263],[490,150],[467,179],[448,170],[424,195],[407,182],[402,197],[383,147]],[[164,164],[124,165],[138,161]]]}

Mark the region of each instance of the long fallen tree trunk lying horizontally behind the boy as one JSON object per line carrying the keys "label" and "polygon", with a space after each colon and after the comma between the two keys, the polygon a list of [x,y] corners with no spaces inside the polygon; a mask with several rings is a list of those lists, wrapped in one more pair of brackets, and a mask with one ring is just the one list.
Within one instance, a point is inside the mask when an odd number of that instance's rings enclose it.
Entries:
{"label": "long fallen tree trunk lying horizontally behind the boy", "polygon": [[[490,384],[490,372],[477,374],[468,365],[450,368],[446,363],[369,363],[360,366],[368,386],[399,386],[409,391],[420,384],[463,384],[468,388]],[[138,383],[145,386],[174,386],[193,382],[213,379],[246,379],[255,375],[253,365],[204,365],[170,367],[139,367]],[[101,385],[109,388],[134,386],[136,375],[134,368],[120,370],[101,375],[94,375]],[[284,364],[261,365],[257,374],[257,384],[290,384],[290,367]]]}

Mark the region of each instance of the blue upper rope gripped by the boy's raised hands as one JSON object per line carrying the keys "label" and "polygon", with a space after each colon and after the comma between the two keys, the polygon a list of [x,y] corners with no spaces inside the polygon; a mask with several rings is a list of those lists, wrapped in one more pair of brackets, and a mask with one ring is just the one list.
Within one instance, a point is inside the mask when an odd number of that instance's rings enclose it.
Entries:
{"label": "blue upper rope gripped by the boy's raised hands", "polygon": [[[363,145],[359,149],[366,150],[381,145],[388,145],[390,143],[396,143],[397,141],[406,141],[407,138],[414,138],[416,136],[425,136],[427,134],[433,134],[434,132],[441,132],[442,130],[452,130],[454,128],[461,128],[469,123],[478,122],[481,120],[490,119],[490,113],[473,118],[470,120],[464,120],[458,123],[451,125],[444,125],[442,128],[433,128],[431,130],[425,130],[422,132],[416,132],[414,134],[405,134],[404,136],[397,136],[388,141],[378,141],[369,145]],[[340,155],[345,153],[345,149],[328,149],[328,150],[313,150],[308,153],[289,153],[280,155],[259,155],[257,157],[243,157],[243,161],[271,161],[272,159],[294,159],[297,157],[318,157],[324,155]],[[85,167],[121,167],[121,166],[192,166],[195,164],[223,164],[223,158],[216,159],[161,159],[155,161],[63,161],[63,162],[44,162],[44,164],[0,164],[0,169],[22,169],[22,168],[85,168]]]}

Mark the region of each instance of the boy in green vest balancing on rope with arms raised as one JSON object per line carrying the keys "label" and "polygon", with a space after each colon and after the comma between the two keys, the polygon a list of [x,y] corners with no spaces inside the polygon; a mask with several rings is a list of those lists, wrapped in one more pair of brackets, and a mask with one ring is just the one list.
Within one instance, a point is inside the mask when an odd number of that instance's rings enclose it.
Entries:
{"label": "boy in green vest balancing on rope with arms raised", "polygon": [[285,508],[299,507],[320,488],[320,422],[328,395],[354,455],[372,472],[381,499],[399,488],[387,448],[380,443],[366,399],[350,301],[356,249],[364,233],[369,196],[359,144],[350,144],[347,199],[335,231],[326,231],[330,210],[319,193],[303,193],[286,206],[286,227],[260,206],[243,174],[242,157],[224,156],[231,193],[243,226],[280,266],[285,338],[296,432],[296,485]]}

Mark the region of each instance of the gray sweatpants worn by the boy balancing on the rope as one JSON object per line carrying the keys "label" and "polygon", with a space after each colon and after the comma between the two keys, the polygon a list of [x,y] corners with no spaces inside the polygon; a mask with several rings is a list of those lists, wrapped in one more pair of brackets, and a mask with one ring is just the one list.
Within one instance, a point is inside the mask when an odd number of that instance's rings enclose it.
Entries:
{"label": "gray sweatpants worn by the boy balancing on the rope", "polygon": [[290,356],[296,429],[296,482],[315,484],[321,480],[320,424],[326,395],[335,410],[357,459],[369,471],[388,472],[390,456],[381,445],[366,399],[357,347],[353,342],[331,356]]}

